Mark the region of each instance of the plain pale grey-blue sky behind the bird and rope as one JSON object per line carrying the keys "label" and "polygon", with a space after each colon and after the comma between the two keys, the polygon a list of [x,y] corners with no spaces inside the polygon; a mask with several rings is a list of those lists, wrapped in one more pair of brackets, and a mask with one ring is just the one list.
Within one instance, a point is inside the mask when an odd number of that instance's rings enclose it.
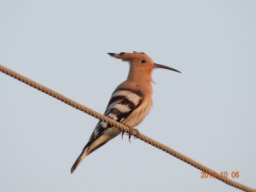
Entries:
{"label": "plain pale grey-blue sky behind the bird and rope", "polygon": [[[0,1],[0,63],[104,112],[143,51],[154,108],[137,128],[256,188],[255,1]],[[70,174],[97,119],[0,74],[0,191],[239,191],[116,137]]]}

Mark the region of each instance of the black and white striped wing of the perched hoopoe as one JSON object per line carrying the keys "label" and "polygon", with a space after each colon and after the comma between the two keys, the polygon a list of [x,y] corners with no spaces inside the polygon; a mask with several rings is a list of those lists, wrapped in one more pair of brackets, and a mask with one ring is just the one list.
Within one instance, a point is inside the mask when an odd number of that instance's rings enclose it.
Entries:
{"label": "black and white striped wing of the perched hoopoe", "polygon": [[[122,123],[136,108],[143,102],[143,92],[139,90],[119,89],[115,90],[108,102],[108,107],[104,115]],[[103,121],[99,121],[95,130],[90,136],[89,142],[84,148],[93,143],[97,137],[102,136],[104,131],[110,125]]]}

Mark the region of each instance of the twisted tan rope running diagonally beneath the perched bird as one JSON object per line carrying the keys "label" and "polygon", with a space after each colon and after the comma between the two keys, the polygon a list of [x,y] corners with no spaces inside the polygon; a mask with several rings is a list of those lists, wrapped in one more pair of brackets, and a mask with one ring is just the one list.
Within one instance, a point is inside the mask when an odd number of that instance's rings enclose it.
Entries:
{"label": "twisted tan rope running diagonally beneath the perched bird", "polygon": [[201,165],[200,163],[196,162],[195,160],[192,160],[189,157],[178,153],[174,149],[169,148],[168,146],[166,146],[162,143],[159,143],[159,142],[155,141],[154,139],[143,135],[142,133],[139,133],[137,135],[137,131],[134,130],[133,128],[128,127],[123,124],[120,124],[119,122],[117,122],[113,119],[110,119],[110,118],[102,115],[101,113],[97,113],[96,111],[94,111],[90,108],[87,108],[84,105],[81,105],[79,102],[74,102],[73,100],[67,98],[67,96],[62,96],[60,93],[56,92],[55,90],[50,90],[49,88],[45,87],[44,85],[38,84],[37,82],[33,81],[32,79],[28,79],[19,73],[15,73],[14,71],[10,70],[7,67],[3,67],[2,65],[0,65],[0,71],[2,73],[9,75],[12,78],[18,79],[22,83],[28,84],[28,85],[32,86],[33,88],[40,90],[40,91],[44,92],[45,94],[48,94],[49,96],[55,97],[56,99],[60,100],[61,102],[67,103],[67,105],[72,106],[73,108],[79,109],[80,111],[83,111],[84,113],[90,114],[91,116],[95,117],[96,119],[100,119],[100,120],[108,123],[109,125],[115,126],[115,127],[119,128],[120,131],[125,131],[126,133],[130,133],[133,137],[137,137],[137,138],[143,140],[143,142],[148,143],[148,144],[154,146],[155,148],[159,148],[162,151],[165,151],[167,154],[172,154],[172,156],[176,157],[177,159],[183,160],[184,162],[188,163],[190,166],[194,166],[195,168],[201,170],[202,172],[207,172],[207,174],[209,174],[210,176],[218,178],[218,180],[220,180],[226,184],[229,184],[232,187],[235,187],[237,189],[241,189],[241,190],[244,190],[247,192],[256,192],[256,189],[252,189],[252,188],[247,187],[246,185],[232,181],[230,178],[222,177],[218,172],[214,172],[212,169],[208,168],[207,166]]}

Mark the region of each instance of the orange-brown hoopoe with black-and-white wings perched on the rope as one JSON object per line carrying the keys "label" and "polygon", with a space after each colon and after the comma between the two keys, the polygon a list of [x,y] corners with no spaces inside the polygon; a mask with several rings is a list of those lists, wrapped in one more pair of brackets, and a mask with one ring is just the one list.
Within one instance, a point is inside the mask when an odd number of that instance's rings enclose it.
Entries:
{"label": "orange-brown hoopoe with black-and-white wings perched on the rope", "polygon": [[[134,127],[141,123],[151,108],[152,102],[152,72],[154,68],[165,68],[180,73],[172,67],[166,67],[151,60],[143,52],[119,54],[108,53],[114,58],[128,61],[130,71],[128,78],[113,91],[108,107],[104,115],[122,124]],[[84,158],[108,143],[113,137],[121,133],[118,128],[111,127],[103,121],[99,121],[95,130],[92,132],[89,142],[85,145],[79,158],[72,166],[71,173],[79,166]],[[129,135],[130,139],[131,135]]]}

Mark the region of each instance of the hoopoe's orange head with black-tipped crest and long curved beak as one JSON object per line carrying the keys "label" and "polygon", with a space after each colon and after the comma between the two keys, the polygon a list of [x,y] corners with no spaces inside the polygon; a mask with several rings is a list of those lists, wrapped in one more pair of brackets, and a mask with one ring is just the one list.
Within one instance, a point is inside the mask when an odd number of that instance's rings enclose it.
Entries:
{"label": "hoopoe's orange head with black-tipped crest and long curved beak", "polygon": [[143,52],[133,51],[133,53],[121,52],[119,54],[108,53],[108,55],[113,56],[114,58],[121,59],[122,61],[129,61],[132,68],[135,69],[143,69],[145,71],[152,72],[154,68],[164,68],[168,70],[172,70],[174,72],[178,72],[176,69],[172,67],[167,67],[164,65],[160,65],[154,63],[154,61]]}

